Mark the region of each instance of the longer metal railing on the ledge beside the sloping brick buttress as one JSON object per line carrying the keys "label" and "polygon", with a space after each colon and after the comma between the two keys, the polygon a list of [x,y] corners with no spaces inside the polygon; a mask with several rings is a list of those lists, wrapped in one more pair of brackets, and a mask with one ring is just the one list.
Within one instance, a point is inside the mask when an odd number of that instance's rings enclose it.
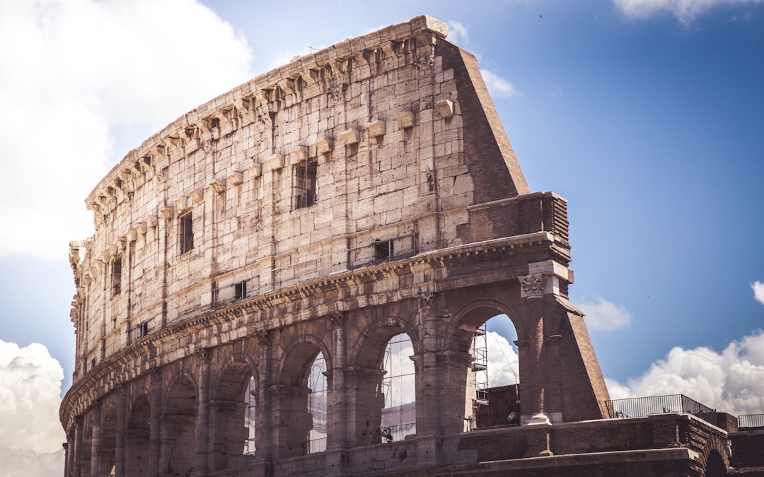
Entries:
{"label": "longer metal railing on the ledge beside the sloping brick buttress", "polygon": [[650,414],[692,414],[710,424],[717,424],[716,409],[685,395],[650,396],[647,398],[612,399],[605,401],[610,418],[645,417]]}

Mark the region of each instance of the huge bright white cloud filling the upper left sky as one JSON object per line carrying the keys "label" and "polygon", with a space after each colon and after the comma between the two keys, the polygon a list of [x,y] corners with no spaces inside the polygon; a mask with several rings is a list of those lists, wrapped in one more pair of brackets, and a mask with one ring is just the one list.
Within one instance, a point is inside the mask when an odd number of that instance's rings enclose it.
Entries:
{"label": "huge bright white cloud filling the upper left sky", "polygon": [[[251,52],[196,0],[0,0],[0,257],[66,256],[115,131],[151,135],[248,79]],[[23,231],[23,233],[20,233]]]}

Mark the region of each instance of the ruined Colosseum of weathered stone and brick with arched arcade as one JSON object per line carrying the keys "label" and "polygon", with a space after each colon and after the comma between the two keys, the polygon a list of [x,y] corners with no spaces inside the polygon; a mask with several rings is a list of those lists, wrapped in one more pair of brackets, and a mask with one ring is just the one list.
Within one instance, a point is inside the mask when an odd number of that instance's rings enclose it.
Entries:
{"label": "ruined Colosseum of weathered stone and brick with arched arcade", "polygon": [[[70,247],[67,477],[728,463],[724,430],[691,414],[611,418],[568,301],[567,201],[529,190],[474,56],[447,34],[423,16],[298,57],[95,186],[95,234]],[[519,385],[509,416],[481,422],[494,398],[475,337],[500,314]],[[401,336],[407,404],[386,395]]]}

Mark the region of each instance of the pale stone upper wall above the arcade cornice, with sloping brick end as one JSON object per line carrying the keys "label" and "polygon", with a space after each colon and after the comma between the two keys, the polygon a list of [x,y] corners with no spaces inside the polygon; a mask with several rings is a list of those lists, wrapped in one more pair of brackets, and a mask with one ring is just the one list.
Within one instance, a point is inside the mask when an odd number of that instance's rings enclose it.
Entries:
{"label": "pale stone upper wall above the arcade cornice, with sloping brick end", "polygon": [[362,266],[550,231],[474,56],[417,17],[183,115],[128,153],[72,243],[77,371],[136,337]]}

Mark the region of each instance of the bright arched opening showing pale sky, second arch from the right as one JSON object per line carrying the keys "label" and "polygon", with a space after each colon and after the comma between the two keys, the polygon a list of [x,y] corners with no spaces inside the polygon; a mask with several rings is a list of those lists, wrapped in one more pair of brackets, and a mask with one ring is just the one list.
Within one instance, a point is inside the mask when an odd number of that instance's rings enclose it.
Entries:
{"label": "bright arched opening showing pale sky, second arch from the right", "polygon": [[384,352],[380,439],[403,440],[416,434],[416,371],[410,359],[414,354],[411,338],[401,333],[387,341]]}

